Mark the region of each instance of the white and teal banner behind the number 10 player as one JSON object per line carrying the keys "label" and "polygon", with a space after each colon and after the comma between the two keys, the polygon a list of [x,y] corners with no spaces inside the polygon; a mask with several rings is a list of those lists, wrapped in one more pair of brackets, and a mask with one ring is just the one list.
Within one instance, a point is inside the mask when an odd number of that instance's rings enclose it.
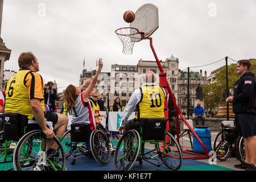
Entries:
{"label": "white and teal banner behind the number 10 player", "polygon": [[[117,131],[118,127],[121,123],[123,111],[113,111],[109,112],[108,121],[109,121],[109,131]],[[131,113],[128,120],[133,119],[135,117],[135,112]]]}

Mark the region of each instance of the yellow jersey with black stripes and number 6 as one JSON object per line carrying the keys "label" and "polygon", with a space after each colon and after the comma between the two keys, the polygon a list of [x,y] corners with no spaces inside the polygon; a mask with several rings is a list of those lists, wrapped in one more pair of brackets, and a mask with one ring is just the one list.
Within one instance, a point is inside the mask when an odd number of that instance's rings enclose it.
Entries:
{"label": "yellow jersey with black stripes and number 6", "polygon": [[32,119],[30,100],[33,98],[41,101],[45,111],[43,88],[42,76],[30,69],[20,69],[6,84],[5,112],[27,115]]}

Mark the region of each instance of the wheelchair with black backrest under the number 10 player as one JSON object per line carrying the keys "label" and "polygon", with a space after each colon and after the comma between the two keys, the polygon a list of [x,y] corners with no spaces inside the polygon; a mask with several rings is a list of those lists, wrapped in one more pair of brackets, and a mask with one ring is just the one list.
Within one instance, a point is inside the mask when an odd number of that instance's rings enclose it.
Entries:
{"label": "wheelchair with black backrest under the number 10 player", "polygon": [[[143,160],[153,164],[158,170],[162,164],[174,170],[181,167],[182,152],[174,136],[166,131],[166,119],[141,119],[134,124],[134,127],[125,126],[125,133],[117,144],[114,153],[114,167],[117,171],[128,171],[136,161],[142,164]],[[144,151],[146,142],[154,147]]]}

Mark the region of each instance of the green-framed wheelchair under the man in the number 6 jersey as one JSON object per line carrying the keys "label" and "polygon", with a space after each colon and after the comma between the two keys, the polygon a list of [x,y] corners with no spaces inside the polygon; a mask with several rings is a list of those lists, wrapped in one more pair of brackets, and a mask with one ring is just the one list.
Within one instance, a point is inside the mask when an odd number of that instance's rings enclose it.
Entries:
{"label": "green-framed wheelchair under the man in the number 6 jersey", "polygon": [[[65,158],[60,137],[47,139],[36,121],[17,113],[1,115],[5,121],[4,130],[0,133],[0,166],[13,162],[15,171],[64,171]],[[51,127],[52,122],[47,122]],[[57,139],[59,138],[59,139]],[[54,147],[53,150],[51,147]],[[60,158],[62,160],[60,160]]]}

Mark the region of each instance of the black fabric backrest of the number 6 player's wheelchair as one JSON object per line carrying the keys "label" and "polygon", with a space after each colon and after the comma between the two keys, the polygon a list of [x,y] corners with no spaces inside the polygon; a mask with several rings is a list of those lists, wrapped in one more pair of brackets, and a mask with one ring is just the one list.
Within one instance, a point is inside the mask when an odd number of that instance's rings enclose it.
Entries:
{"label": "black fabric backrest of the number 6 player's wheelchair", "polygon": [[3,138],[7,140],[18,141],[24,135],[24,129],[27,126],[27,115],[18,113],[3,113]]}

